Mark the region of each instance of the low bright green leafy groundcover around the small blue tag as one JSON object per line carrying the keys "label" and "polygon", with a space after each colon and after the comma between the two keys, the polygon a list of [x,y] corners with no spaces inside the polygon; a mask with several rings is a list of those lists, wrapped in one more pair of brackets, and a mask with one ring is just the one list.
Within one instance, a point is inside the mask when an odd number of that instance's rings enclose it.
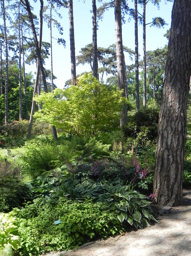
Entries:
{"label": "low bright green leafy groundcover around the small blue tag", "polygon": [[[21,237],[19,250],[24,256],[76,248],[92,238],[104,238],[124,230],[115,212],[104,202],[84,200],[82,203],[62,197],[57,205],[50,205],[39,198],[15,212]],[[62,223],[55,225],[58,219]]]}

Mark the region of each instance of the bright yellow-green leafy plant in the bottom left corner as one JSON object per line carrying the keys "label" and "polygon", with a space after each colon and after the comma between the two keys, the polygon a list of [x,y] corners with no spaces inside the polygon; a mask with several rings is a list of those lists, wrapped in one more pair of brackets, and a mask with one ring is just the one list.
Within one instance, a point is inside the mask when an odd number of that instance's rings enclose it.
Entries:
{"label": "bright yellow-green leafy plant in the bottom left corner", "polygon": [[[11,248],[6,244],[10,244]],[[17,233],[15,217],[8,213],[0,213],[0,255],[12,256],[13,249],[17,251],[19,245],[20,239]],[[2,254],[2,251],[4,251],[4,254]],[[10,254],[6,254],[6,251]]]}

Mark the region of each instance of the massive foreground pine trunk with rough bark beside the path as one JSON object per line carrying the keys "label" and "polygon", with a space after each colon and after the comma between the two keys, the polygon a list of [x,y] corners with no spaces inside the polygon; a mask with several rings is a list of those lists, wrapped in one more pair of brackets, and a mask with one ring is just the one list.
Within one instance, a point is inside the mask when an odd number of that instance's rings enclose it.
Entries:
{"label": "massive foreground pine trunk with rough bark beside the path", "polygon": [[175,0],[155,155],[154,201],[183,203],[186,106],[191,76],[191,0]]}

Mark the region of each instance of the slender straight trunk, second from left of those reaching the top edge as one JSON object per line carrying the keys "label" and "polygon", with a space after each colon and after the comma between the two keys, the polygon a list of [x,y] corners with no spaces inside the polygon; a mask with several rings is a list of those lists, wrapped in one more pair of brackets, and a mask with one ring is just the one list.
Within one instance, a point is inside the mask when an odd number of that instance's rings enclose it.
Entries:
{"label": "slender straight trunk, second from left of those reaching the top edge", "polygon": [[19,120],[23,119],[22,109],[22,81],[21,81],[21,22],[20,22],[20,2],[18,8],[18,26],[19,26]]}

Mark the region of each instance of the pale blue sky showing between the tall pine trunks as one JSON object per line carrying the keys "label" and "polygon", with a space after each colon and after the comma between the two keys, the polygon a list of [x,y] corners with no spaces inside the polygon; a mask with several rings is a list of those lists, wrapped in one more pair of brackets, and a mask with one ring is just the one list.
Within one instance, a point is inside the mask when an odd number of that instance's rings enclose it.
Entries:
{"label": "pale blue sky showing between the tall pine trunks", "polygon": [[[31,4],[32,1],[30,1]],[[44,3],[45,5],[45,3]],[[133,2],[129,1],[129,6],[133,7]],[[160,9],[154,6],[151,2],[147,3],[146,7],[146,23],[152,21],[154,17],[162,17],[168,25],[164,28],[154,28],[149,25],[146,26],[146,50],[155,50],[156,48],[162,48],[167,44],[167,38],[163,35],[166,33],[167,29],[171,25],[171,13],[172,13],[172,2],[167,2],[161,0]],[[99,3],[97,1],[97,7]],[[92,42],[92,14],[90,10],[92,9],[92,1],[86,0],[73,0],[73,12],[74,12],[74,34],[75,34],[75,48],[76,56],[79,55],[79,51],[85,45]],[[142,6],[138,7],[138,11],[142,13]],[[38,15],[39,8],[38,4],[35,3],[34,12]],[[54,83],[58,88],[63,88],[65,81],[71,78],[71,66],[70,66],[70,37],[69,37],[69,18],[68,9],[63,8],[60,10],[62,19],[60,20],[63,26],[63,38],[66,40],[66,47],[58,45],[56,40],[53,40],[53,73],[57,76]],[[57,18],[57,17],[55,17]],[[128,16],[126,17],[128,19]],[[59,20],[59,19],[58,19]],[[126,21],[122,26],[123,33],[123,45],[134,50],[134,20],[130,22]],[[139,25],[139,54],[142,56],[142,25]],[[53,29],[53,37],[60,37],[57,33],[56,28]],[[47,25],[44,23],[43,28],[43,40],[50,41],[50,33]],[[108,47],[115,43],[115,17],[114,8],[105,12],[102,21],[99,21],[99,30],[97,31],[97,45],[99,47]],[[126,64],[128,64],[128,58],[125,59]],[[45,68],[50,69],[50,61],[46,60]],[[34,71],[35,66],[27,66],[26,72]],[[79,65],[76,68],[76,73],[80,74],[84,71],[90,71],[90,66]]]}

